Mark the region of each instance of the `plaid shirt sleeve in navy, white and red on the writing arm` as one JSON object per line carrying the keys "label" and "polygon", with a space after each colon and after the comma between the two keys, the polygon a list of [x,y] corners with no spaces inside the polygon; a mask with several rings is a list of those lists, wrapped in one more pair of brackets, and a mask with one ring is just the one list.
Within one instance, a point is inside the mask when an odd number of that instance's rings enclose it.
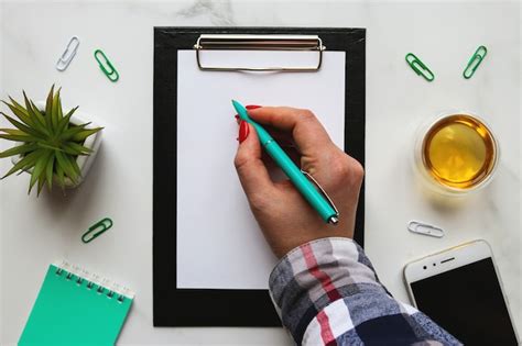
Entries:
{"label": "plaid shirt sleeve in navy, white and red on the writing arm", "polygon": [[349,238],[293,249],[275,266],[269,284],[297,345],[460,345],[422,312],[394,300]]}

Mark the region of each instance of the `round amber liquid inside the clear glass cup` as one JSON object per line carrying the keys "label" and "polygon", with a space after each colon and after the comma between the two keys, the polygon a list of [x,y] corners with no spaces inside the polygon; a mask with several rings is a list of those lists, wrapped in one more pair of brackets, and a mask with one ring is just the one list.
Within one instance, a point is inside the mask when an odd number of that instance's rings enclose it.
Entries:
{"label": "round amber liquid inside the clear glass cup", "polygon": [[424,167],[442,185],[470,189],[493,170],[497,146],[489,129],[477,119],[456,114],[436,122],[422,145]]}

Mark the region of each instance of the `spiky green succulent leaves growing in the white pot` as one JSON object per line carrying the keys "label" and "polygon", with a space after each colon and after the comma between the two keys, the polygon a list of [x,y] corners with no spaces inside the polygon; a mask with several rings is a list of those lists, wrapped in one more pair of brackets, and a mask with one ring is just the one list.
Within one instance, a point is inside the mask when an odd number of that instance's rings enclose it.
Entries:
{"label": "spiky green succulent leaves growing in the white pot", "polygon": [[48,92],[45,111],[41,112],[23,92],[25,107],[13,100],[2,101],[14,116],[0,112],[15,129],[0,129],[0,138],[20,142],[10,149],[0,153],[0,158],[20,155],[21,159],[2,177],[19,171],[31,174],[29,193],[37,182],[37,194],[44,185],[53,188],[53,180],[65,188],[65,179],[78,182],[80,170],[76,163],[79,155],[90,155],[91,149],[84,146],[85,139],[102,127],[86,129],[90,123],[74,125],[70,116],[78,109],[73,108],[64,114],[59,90],[54,85]]}

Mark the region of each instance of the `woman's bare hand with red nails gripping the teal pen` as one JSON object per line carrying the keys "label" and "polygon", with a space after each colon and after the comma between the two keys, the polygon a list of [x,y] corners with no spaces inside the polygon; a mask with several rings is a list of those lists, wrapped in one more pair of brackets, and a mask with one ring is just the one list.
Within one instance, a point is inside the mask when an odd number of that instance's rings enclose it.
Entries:
{"label": "woman's bare hand with red nails gripping the teal pen", "polygon": [[290,180],[272,181],[262,160],[263,149],[255,129],[241,121],[236,169],[250,209],[275,256],[281,258],[318,238],[351,238],[362,166],[331,142],[311,111],[285,107],[248,109],[252,120],[291,135],[301,154],[301,169],[322,185],[339,210],[339,223],[327,224]]}

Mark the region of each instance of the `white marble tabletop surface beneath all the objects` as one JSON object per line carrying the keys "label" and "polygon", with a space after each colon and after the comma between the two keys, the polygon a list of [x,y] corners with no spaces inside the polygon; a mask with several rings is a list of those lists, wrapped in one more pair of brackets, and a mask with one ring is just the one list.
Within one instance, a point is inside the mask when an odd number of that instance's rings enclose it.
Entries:
{"label": "white marble tabletop surface beneath all the objects", "polygon": [[[0,3],[0,98],[22,89],[44,98],[62,86],[106,126],[84,186],[26,196],[28,177],[0,183],[0,343],[14,344],[46,265],[55,258],[107,274],[138,294],[122,345],[291,344],[280,328],[152,327],[152,59],[154,25],[362,26],[367,42],[367,252],[390,291],[407,300],[405,263],[477,237],[490,242],[522,331],[520,226],[519,2],[47,2]],[[72,35],[81,40],[66,72],[54,65]],[[480,44],[489,54],[476,76],[461,69]],[[102,48],[121,74],[110,83],[93,51]],[[414,52],[436,74],[427,83],[404,63]],[[296,104],[298,105],[298,104]],[[481,114],[502,149],[494,181],[461,201],[434,201],[413,181],[409,155],[420,123],[449,108]],[[3,124],[3,123],[2,123]],[[7,147],[0,142],[0,149]],[[0,160],[6,171],[9,160]],[[88,246],[78,242],[94,220],[116,226]],[[411,219],[434,222],[442,239],[410,234]],[[205,312],[202,312],[205,313]],[[487,316],[485,316],[487,317]]]}

